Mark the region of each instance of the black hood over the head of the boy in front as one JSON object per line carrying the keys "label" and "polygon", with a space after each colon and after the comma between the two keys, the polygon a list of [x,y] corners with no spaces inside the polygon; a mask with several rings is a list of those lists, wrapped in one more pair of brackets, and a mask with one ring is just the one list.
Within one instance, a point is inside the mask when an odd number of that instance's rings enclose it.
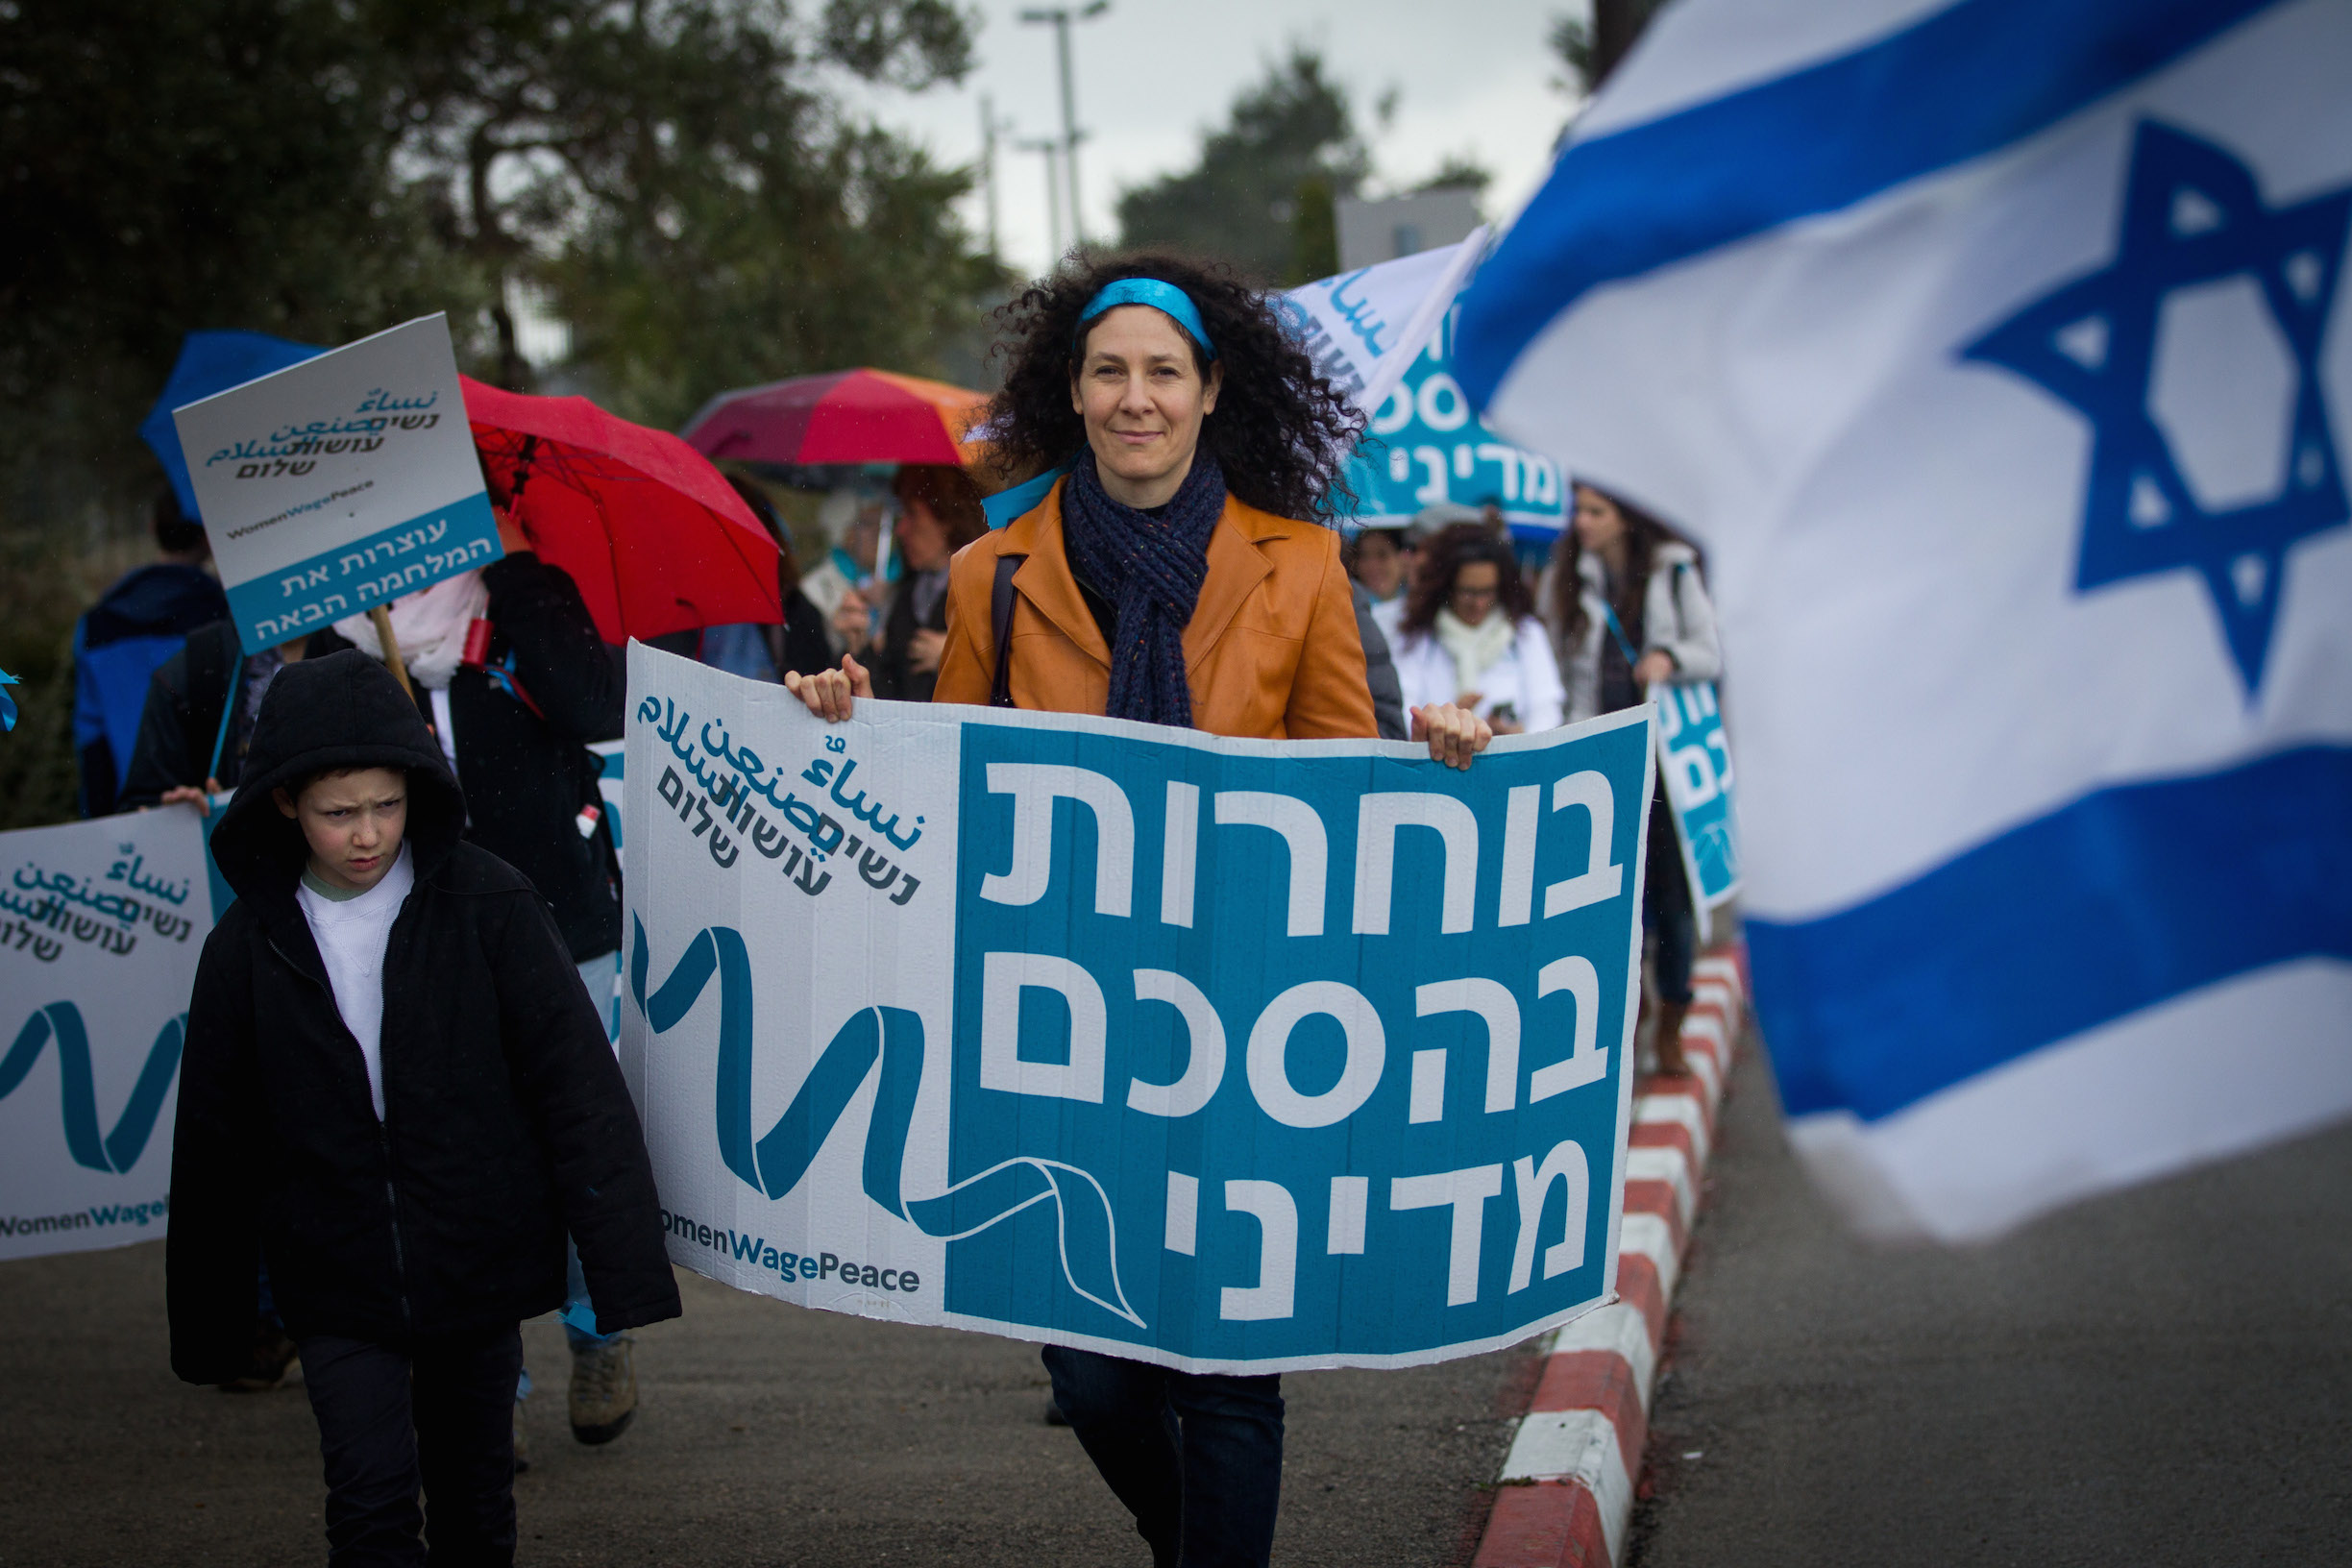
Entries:
{"label": "black hood over the head of the boy in front", "polygon": [[419,877],[437,867],[466,830],[466,797],[393,672],[358,649],[303,658],[270,679],[238,795],[212,830],[212,858],[238,898],[294,896],[308,846],[270,790],[334,769],[409,776],[405,842]]}

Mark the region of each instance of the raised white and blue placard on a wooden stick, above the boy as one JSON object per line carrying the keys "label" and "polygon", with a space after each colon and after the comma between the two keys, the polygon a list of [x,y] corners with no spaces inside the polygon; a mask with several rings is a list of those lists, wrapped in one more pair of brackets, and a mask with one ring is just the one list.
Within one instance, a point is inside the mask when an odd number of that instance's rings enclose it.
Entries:
{"label": "raised white and blue placard on a wooden stick, above the boy", "polygon": [[503,552],[442,315],[172,418],[247,651]]}

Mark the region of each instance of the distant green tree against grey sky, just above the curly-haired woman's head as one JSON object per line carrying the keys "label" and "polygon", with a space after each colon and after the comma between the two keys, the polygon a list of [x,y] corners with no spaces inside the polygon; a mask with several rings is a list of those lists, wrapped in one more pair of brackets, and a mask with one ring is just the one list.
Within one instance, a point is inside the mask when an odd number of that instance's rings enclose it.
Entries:
{"label": "distant green tree against grey sky, just above the curly-haired woman's head", "polygon": [[1345,87],[1315,49],[1294,45],[1207,132],[1200,162],[1124,190],[1124,244],[1164,244],[1230,261],[1265,284],[1338,270],[1334,202],[1371,174]]}

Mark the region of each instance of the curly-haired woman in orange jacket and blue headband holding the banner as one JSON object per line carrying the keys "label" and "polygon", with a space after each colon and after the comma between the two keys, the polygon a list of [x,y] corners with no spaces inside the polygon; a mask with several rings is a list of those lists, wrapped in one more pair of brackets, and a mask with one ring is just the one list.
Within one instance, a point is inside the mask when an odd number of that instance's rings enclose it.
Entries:
{"label": "curly-haired woman in orange jacket and blue headband holding the banner", "polygon": [[[1065,266],[1000,313],[1011,367],[988,423],[1037,475],[1009,527],[955,557],[934,701],[1268,741],[1374,733],[1338,534],[1317,522],[1357,435],[1265,296],[1171,256]],[[1000,498],[1002,501],[1002,498]],[[821,717],[854,661],[795,679]],[[1451,766],[1491,738],[1414,715]],[[1282,1497],[1282,1382],[1047,1347],[1054,1401],[1152,1561],[1265,1563]]]}

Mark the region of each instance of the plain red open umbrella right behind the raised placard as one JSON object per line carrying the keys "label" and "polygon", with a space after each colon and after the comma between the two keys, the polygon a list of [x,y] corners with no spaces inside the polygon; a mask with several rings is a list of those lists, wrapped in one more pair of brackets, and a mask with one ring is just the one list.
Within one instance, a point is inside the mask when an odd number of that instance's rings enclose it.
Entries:
{"label": "plain red open umbrella right behind the raised placard", "polygon": [[699,451],[586,397],[459,381],[492,491],[572,574],[604,642],[783,621],[776,541]]}

